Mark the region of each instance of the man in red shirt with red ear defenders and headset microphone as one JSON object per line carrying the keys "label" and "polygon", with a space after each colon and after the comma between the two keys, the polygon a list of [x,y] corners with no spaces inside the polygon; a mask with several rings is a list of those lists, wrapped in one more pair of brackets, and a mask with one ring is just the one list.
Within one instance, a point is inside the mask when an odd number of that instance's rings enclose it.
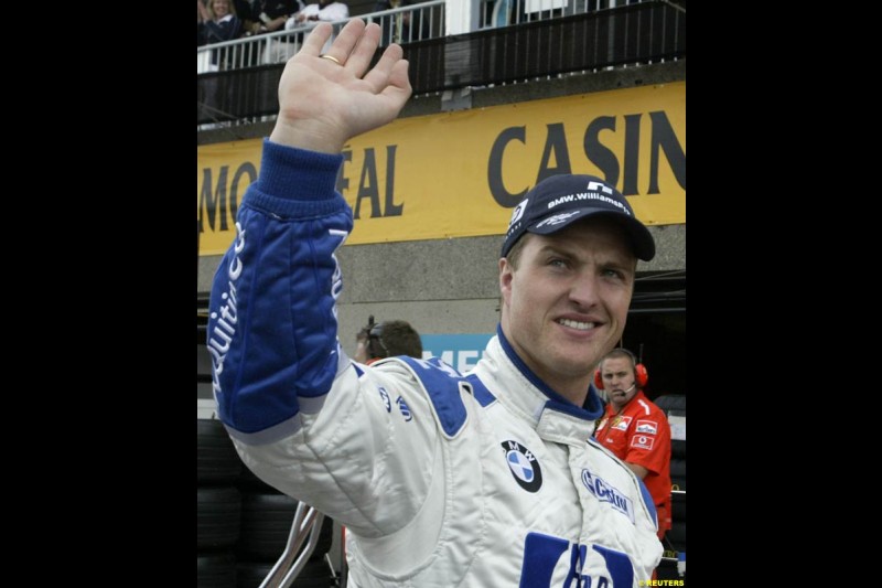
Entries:
{"label": "man in red shirt with red ear defenders and headset microphone", "polygon": [[658,538],[670,528],[670,425],[644,394],[649,376],[626,349],[614,349],[600,362],[594,385],[610,403],[594,438],[634,470],[653,496]]}

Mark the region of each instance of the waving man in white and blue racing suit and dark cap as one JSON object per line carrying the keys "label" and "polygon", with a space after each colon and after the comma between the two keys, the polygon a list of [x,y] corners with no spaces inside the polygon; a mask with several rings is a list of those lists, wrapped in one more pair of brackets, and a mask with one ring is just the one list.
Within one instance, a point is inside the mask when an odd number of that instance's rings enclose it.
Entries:
{"label": "waving man in white and blue racing suit and dark cap", "polygon": [[346,527],[348,586],[643,585],[663,553],[655,506],[591,438],[589,383],[622,338],[652,233],[598,177],[537,180],[501,227],[499,324],[471,372],[352,360],[337,332],[354,228],[342,151],[412,87],[401,45],[377,58],[378,24],[349,20],[323,54],[331,34],[316,24],[284,66],[212,286],[213,389],[236,450]]}

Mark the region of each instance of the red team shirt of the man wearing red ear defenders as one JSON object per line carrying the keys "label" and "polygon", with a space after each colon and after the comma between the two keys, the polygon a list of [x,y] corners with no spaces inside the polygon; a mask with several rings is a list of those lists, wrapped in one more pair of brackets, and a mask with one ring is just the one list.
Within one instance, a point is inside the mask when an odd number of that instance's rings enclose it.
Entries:
{"label": "red team shirt of the man wearing red ear defenders", "polygon": [[670,528],[670,425],[643,391],[615,413],[615,406],[607,404],[594,438],[622,461],[649,470],[643,483],[655,502],[660,539]]}

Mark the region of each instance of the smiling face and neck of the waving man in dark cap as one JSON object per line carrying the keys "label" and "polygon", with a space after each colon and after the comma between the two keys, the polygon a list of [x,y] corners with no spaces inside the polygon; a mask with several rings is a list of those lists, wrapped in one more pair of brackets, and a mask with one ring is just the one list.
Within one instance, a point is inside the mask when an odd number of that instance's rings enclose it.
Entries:
{"label": "smiling face and neck of the waving man in dark cap", "polygon": [[529,240],[517,269],[499,260],[503,332],[536,375],[579,404],[622,336],[636,258],[622,228],[604,218],[521,238]]}

